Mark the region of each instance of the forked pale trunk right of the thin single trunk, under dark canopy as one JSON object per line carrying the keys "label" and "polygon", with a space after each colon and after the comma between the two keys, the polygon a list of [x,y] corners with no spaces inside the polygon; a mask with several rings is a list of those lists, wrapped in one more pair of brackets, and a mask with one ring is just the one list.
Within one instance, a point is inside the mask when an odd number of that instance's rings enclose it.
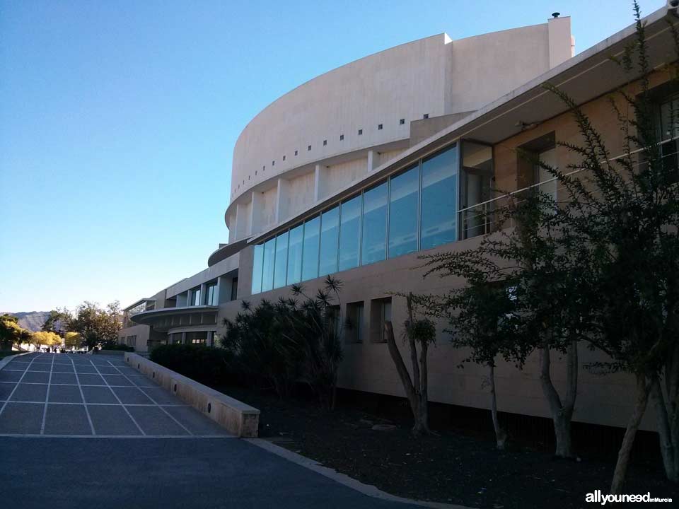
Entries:
{"label": "forked pale trunk right of the thin single trunk, under dark canopy", "polygon": [[575,457],[571,442],[571,419],[575,408],[575,399],[578,387],[578,348],[577,342],[571,341],[567,351],[567,390],[564,402],[559,397],[550,373],[551,358],[550,346],[545,341],[540,350],[540,385],[542,393],[550,406],[552,421],[554,422],[554,434],[557,441],[555,456]]}

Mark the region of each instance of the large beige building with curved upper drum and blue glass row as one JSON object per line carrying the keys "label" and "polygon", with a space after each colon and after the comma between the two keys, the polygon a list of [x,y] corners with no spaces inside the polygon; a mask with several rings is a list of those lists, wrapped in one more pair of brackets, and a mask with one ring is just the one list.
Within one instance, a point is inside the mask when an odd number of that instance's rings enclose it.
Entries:
{"label": "large beige building with curved upper drum and blue glass row", "polygon": [[[675,60],[666,14],[646,18],[654,68]],[[423,280],[414,267],[420,254],[477,245],[489,231],[479,211],[492,206],[492,189],[558,192],[516,154],[523,148],[557,166],[571,162],[555,140],[577,143],[577,127],[545,83],[581,104],[613,153],[622,153],[605,95],[636,87],[610,60],[632,37],[634,26],[574,57],[570,19],[556,15],[541,25],[462,40],[426,37],[291,90],[238,138],[225,213],[228,243],[210,254],[206,270],[127,308],[137,325],[123,329],[121,341],[137,334],[141,350],[148,348],[144,338],[149,345],[210,344],[221,320],[240,310],[240,300],[277,300],[297,282],[314,293],[326,274],[337,274],[343,311],[357,324],[344,344],[340,386],[402,395],[382,324],[393,320],[398,334],[405,303],[390,293],[460,284]],[[658,108],[672,100],[663,90],[667,80],[665,71],[654,74]],[[144,332],[135,332],[139,327]],[[432,401],[488,407],[485,371],[456,367],[464,352],[441,339],[429,355]],[[596,359],[581,352],[582,363]],[[499,365],[499,409],[549,416],[537,374],[537,358],[521,372]],[[582,370],[579,383],[574,421],[625,423],[633,380]],[[649,409],[642,428],[654,429],[654,419]]]}

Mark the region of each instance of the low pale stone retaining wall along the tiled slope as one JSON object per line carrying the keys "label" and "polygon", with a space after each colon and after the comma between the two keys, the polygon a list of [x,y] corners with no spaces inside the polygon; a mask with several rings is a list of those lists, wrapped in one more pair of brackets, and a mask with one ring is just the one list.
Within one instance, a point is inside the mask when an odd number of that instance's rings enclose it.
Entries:
{"label": "low pale stone retaining wall along the tiled slope", "polygon": [[260,411],[253,406],[175,373],[137,353],[124,352],[124,356],[125,362],[132,368],[155,380],[183,402],[226,428],[229,433],[238,437],[257,437]]}

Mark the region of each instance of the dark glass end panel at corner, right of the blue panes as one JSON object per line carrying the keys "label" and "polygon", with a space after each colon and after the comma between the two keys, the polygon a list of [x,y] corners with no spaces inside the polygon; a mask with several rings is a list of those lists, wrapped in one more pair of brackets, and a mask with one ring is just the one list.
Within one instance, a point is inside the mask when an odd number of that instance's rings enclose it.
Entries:
{"label": "dark glass end panel at corner, right of the blue panes", "polygon": [[[490,231],[490,189],[493,177],[493,149],[464,141],[460,165],[460,228],[462,238]],[[478,205],[478,206],[475,206]]]}

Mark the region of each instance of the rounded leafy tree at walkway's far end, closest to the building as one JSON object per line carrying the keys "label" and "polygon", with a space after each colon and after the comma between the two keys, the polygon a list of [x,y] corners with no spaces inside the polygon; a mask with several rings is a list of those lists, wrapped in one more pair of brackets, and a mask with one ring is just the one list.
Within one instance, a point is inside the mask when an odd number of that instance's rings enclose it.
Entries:
{"label": "rounded leafy tree at walkway's far end, closest to the building", "polygon": [[74,313],[63,312],[67,332],[77,332],[88,349],[106,343],[117,343],[122,325],[120,304],[115,301],[100,308],[97,303],[85,301]]}

